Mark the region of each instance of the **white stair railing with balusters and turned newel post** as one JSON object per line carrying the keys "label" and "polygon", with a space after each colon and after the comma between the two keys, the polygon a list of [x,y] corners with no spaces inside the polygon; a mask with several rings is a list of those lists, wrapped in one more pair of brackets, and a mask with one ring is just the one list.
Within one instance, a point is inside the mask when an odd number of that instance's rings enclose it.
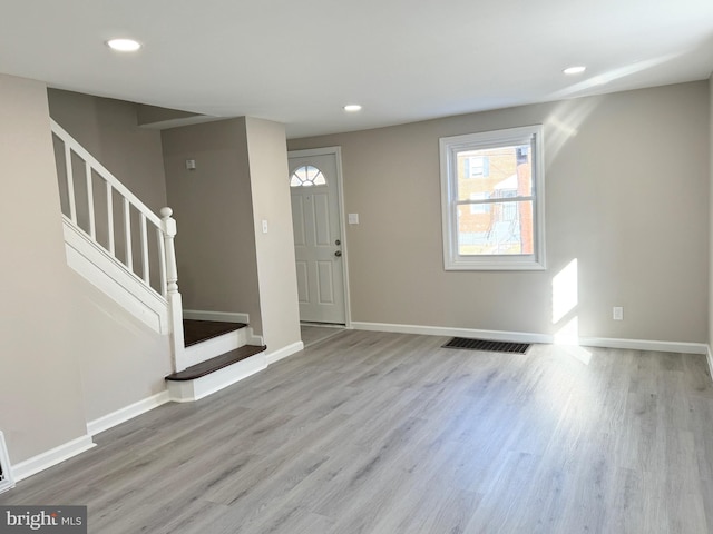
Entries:
{"label": "white stair railing with balusters and turned newel post", "polygon": [[[61,144],[61,148],[56,145],[56,157],[60,196],[65,197],[65,222],[77,234],[91,240],[97,248],[114,258],[115,264],[121,265],[130,278],[165,303],[172,336],[174,370],[185,369],[182,297],[178,293],[174,248],[176,220],[172,217],[173,210],[163,208],[162,217],[158,217],[61,126],[52,119],[50,121],[52,134]],[[77,164],[84,168],[82,176],[75,181]],[[77,187],[79,180],[81,187]],[[99,187],[104,187],[104,192],[95,191],[95,180]],[[119,209],[115,209],[115,201]],[[99,218],[96,214],[97,204],[106,206],[106,214]],[[133,224],[133,218],[138,221],[137,225]],[[98,238],[99,234],[101,239]],[[120,235],[119,240],[116,234]],[[149,239],[152,234],[155,239]]]}

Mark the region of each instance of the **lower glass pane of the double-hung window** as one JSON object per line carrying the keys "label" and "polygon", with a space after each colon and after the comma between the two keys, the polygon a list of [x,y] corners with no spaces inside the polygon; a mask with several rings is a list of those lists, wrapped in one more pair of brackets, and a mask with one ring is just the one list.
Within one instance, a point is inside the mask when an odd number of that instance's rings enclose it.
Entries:
{"label": "lower glass pane of the double-hung window", "polygon": [[488,204],[488,211],[471,212],[458,207],[458,254],[521,255],[534,254],[533,202]]}

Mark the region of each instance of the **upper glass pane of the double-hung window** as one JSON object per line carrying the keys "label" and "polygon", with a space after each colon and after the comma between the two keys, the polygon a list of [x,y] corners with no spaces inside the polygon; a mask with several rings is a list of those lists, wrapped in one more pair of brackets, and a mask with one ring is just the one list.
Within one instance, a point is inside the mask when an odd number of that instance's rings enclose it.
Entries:
{"label": "upper glass pane of the double-hung window", "polygon": [[530,146],[457,152],[458,200],[533,195]]}

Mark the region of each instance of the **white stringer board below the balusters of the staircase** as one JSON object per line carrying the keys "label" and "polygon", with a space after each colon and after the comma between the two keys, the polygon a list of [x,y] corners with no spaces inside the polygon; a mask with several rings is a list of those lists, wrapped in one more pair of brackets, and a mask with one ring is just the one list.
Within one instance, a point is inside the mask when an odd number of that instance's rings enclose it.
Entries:
{"label": "white stringer board below the balusters of the staircase", "polygon": [[155,332],[169,334],[168,301],[65,216],[62,226],[67,265]]}

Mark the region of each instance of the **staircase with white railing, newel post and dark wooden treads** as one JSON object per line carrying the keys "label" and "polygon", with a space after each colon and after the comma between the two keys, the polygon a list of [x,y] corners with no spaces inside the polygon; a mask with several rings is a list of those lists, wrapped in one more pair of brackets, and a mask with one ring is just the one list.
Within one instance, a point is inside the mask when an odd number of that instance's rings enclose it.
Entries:
{"label": "staircase with white railing, newel post and dark wooden treads", "polygon": [[[205,397],[267,366],[244,323],[184,320],[170,208],[160,217],[51,121],[68,265],[170,338],[172,400]],[[247,345],[247,342],[260,342]]]}

